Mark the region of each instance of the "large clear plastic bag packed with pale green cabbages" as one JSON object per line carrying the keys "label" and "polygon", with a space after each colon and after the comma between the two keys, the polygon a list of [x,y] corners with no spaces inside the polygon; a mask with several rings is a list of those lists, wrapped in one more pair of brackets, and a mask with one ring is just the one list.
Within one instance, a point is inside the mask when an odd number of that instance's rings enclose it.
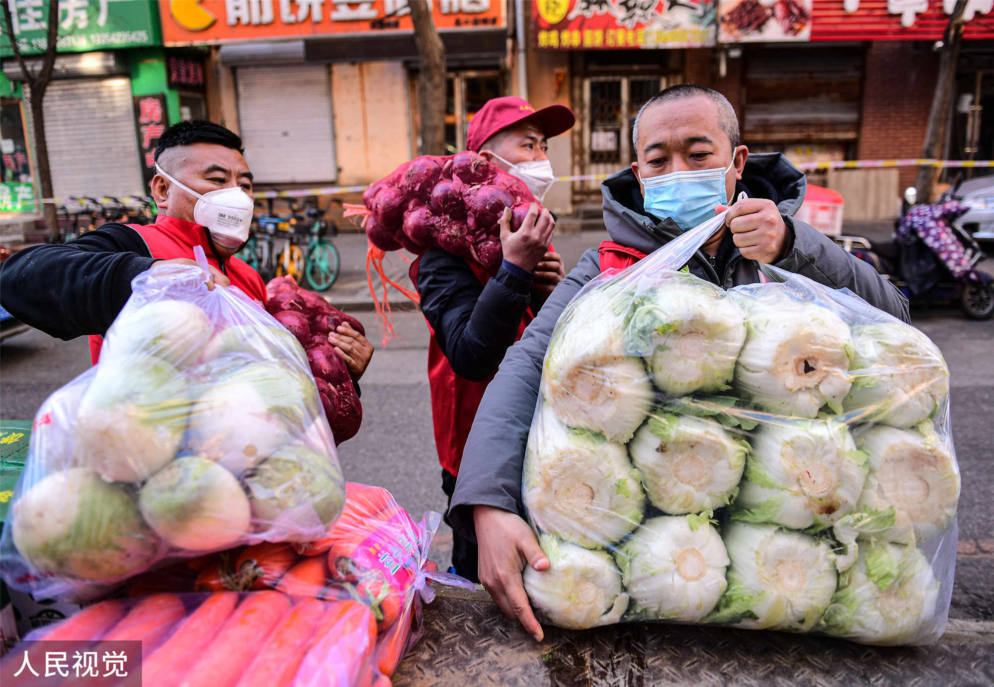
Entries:
{"label": "large clear plastic bag packed with pale green cabbages", "polygon": [[680,268],[724,216],[585,286],[550,340],[522,493],[540,616],[918,644],[944,630],[959,471],[938,348],[847,290]]}

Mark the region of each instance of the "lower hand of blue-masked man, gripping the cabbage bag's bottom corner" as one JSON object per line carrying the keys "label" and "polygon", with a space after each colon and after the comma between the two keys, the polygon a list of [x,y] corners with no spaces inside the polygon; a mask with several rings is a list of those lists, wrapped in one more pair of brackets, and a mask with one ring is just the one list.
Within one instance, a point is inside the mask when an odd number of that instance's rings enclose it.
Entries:
{"label": "lower hand of blue-masked man, gripping the cabbage bag's bottom corner", "polygon": [[542,641],[542,625],[535,619],[521,581],[526,565],[537,571],[549,568],[535,533],[517,513],[492,506],[475,506],[473,522],[480,549],[480,582],[505,615],[520,620],[536,641]]}

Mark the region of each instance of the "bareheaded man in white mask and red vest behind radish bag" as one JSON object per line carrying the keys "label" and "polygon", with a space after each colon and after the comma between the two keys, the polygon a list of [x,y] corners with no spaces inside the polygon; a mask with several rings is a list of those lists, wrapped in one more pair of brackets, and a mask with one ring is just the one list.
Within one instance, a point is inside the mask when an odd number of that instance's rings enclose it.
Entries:
{"label": "bareheaded man in white mask and red vest behind radish bag", "polygon": [[[253,206],[242,139],[210,121],[181,121],[159,138],[155,167],[154,224],[107,223],[76,241],[21,251],[0,271],[3,306],[11,314],[60,339],[88,335],[94,364],[102,334],[131,295],[131,279],[159,261],[195,264],[197,246],[208,259],[209,288],[237,286],[265,304],[262,277],[235,257],[248,239]],[[340,327],[329,340],[353,352],[343,358],[358,379],[372,346],[351,327]]]}

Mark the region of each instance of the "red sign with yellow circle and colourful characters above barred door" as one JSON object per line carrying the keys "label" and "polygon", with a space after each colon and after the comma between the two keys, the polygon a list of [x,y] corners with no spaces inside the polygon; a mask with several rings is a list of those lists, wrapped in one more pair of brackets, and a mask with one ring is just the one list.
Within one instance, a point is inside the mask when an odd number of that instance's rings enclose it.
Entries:
{"label": "red sign with yellow circle and colourful characters above barred door", "polygon": [[694,48],[715,45],[717,0],[537,0],[540,50]]}

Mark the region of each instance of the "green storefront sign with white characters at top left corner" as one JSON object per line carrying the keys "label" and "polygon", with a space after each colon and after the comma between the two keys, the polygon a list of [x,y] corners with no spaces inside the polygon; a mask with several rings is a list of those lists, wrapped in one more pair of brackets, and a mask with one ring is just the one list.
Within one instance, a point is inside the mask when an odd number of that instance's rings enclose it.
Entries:
{"label": "green storefront sign with white characters at top left corner", "polygon": [[[48,1],[0,1],[14,10],[14,36],[21,53],[44,53]],[[162,45],[158,7],[152,0],[61,0],[58,21],[60,53]],[[5,27],[0,37],[0,57],[12,55]]]}

